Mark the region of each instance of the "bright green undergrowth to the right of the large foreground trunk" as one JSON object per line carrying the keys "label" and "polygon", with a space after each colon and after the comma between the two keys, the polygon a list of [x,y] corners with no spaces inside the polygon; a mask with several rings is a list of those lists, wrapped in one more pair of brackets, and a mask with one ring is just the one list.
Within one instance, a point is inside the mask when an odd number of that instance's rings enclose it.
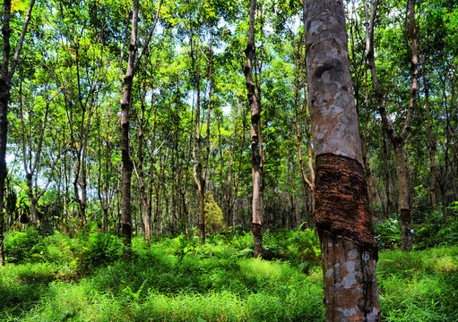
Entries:
{"label": "bright green undergrowth to the right of the large foreground trunk", "polygon": [[380,254],[384,321],[458,321],[458,246]]}

